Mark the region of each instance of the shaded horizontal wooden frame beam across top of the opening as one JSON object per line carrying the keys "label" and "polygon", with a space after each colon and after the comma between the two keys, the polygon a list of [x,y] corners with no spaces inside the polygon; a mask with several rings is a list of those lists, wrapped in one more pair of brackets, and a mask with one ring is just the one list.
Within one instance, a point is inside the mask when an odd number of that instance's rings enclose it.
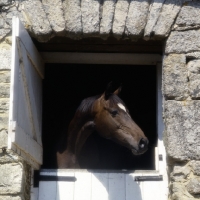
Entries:
{"label": "shaded horizontal wooden frame beam across top of the opening", "polygon": [[156,65],[159,54],[41,52],[46,63]]}

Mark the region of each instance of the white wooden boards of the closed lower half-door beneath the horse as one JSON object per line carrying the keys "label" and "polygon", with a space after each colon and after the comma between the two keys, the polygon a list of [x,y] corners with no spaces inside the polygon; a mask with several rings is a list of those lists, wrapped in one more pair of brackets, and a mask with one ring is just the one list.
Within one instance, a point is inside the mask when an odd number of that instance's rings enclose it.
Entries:
{"label": "white wooden boards of the closed lower half-door beneath the horse", "polygon": [[[75,182],[52,182],[44,181],[40,185],[42,191],[48,193],[51,189],[52,198],[56,192],[56,200],[166,200],[167,196],[163,193],[166,185],[163,181],[135,181],[135,176],[158,176],[156,171],[136,171],[129,172],[98,172],[95,170],[42,170],[41,175],[48,176],[75,176]],[[53,182],[55,183],[55,182]],[[46,187],[46,188],[45,188]],[[55,187],[57,189],[53,189]],[[45,196],[44,192],[40,198]],[[49,198],[49,196],[45,196]],[[41,199],[39,199],[41,200]]]}

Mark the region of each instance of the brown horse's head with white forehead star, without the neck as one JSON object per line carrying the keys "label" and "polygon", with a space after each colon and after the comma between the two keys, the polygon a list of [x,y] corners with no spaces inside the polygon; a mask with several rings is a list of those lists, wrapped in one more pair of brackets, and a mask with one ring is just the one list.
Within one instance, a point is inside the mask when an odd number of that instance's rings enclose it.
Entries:
{"label": "brown horse's head with white forehead star, without the neck", "polygon": [[93,105],[95,129],[102,137],[129,148],[134,155],[143,154],[148,149],[148,139],[119,98],[121,87],[113,93],[111,88],[110,83]]}

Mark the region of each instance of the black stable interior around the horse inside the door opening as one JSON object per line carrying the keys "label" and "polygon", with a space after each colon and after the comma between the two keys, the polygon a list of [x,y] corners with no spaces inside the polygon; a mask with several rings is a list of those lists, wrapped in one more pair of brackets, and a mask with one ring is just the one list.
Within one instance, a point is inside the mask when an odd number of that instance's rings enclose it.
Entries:
{"label": "black stable interior around the horse inside the door opening", "polygon": [[[93,133],[86,141],[79,163],[86,169],[155,169],[156,67],[127,65],[46,64],[43,80],[42,168],[57,168],[56,144],[80,102],[102,94],[113,81],[113,91],[122,84],[121,99],[133,120],[149,139],[149,149],[134,156],[131,151]],[[91,162],[92,161],[92,162]]]}

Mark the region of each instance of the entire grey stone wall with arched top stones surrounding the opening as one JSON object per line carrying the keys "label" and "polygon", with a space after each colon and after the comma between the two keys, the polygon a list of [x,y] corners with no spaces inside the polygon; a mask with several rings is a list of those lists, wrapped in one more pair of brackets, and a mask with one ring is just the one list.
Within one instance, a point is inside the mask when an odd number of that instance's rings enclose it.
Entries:
{"label": "entire grey stone wall with arched top stones surrounding the opening", "polygon": [[[170,200],[200,198],[200,2],[192,0],[0,0],[0,148],[7,144],[11,19],[32,37],[164,40],[163,118]],[[28,199],[30,167],[0,154],[0,199]],[[17,172],[15,170],[17,169]],[[27,172],[28,171],[28,172]],[[12,182],[10,181],[12,180]],[[11,187],[12,185],[12,187]]]}

